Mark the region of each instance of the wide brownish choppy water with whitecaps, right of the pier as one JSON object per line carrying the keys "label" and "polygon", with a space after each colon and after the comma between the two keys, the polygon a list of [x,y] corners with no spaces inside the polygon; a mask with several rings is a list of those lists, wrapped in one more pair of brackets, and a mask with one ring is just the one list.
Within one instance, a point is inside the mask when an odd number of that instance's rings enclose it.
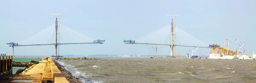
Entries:
{"label": "wide brownish choppy water with whitecaps, right of the pier", "polygon": [[58,60],[84,83],[255,83],[256,60],[102,58]]}

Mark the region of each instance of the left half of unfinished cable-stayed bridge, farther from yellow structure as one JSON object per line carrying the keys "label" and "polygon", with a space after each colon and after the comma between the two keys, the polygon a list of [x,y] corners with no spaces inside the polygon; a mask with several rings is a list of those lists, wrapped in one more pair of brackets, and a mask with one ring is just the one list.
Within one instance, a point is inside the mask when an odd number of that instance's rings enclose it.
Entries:
{"label": "left half of unfinished cable-stayed bridge, farther from yellow structure", "polygon": [[[61,27],[60,27],[61,26]],[[60,33],[58,33],[58,28],[61,28],[61,38],[65,43],[58,43],[58,36]],[[52,36],[55,34],[55,43],[49,43],[49,39],[52,38]],[[62,24],[59,24],[58,26],[58,20],[56,18],[55,25],[47,27],[46,29],[32,35],[31,37],[27,38],[26,40],[23,40],[18,44],[14,42],[6,43],[12,47],[12,55],[14,55],[14,47],[15,46],[45,46],[45,45],[54,45],[55,46],[55,56],[57,56],[57,47],[60,45],[66,45],[66,44],[103,44],[105,40],[95,40],[91,37],[88,37],[84,34],[79,33],[78,31],[75,31],[73,29],[70,29],[67,26],[64,26]],[[58,49],[59,50],[59,49]],[[60,55],[58,55],[60,56]]]}

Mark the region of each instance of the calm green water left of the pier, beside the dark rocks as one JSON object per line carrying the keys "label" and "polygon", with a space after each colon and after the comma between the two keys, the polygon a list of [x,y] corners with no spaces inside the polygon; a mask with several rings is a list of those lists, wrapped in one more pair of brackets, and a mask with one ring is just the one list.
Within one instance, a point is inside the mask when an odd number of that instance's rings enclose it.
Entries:
{"label": "calm green water left of the pier, beside the dark rocks", "polygon": [[[31,60],[40,61],[43,57],[13,57],[12,61],[19,61],[19,62],[30,62]],[[12,74],[15,74],[18,69],[25,69],[26,67],[12,67]]]}

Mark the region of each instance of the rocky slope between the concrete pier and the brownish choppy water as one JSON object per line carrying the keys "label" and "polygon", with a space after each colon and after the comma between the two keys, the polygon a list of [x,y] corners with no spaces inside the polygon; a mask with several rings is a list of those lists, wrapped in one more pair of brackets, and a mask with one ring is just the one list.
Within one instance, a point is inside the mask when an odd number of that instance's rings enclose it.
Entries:
{"label": "rocky slope between the concrete pier and the brownish choppy water", "polygon": [[66,77],[66,79],[70,82],[70,83],[83,83],[80,80],[78,80],[78,78],[74,77],[70,72],[68,72],[66,69],[63,68],[63,66],[61,66],[58,62],[56,62],[55,60],[53,60],[53,62],[55,63],[55,65],[58,67],[58,69],[61,71],[61,73]]}

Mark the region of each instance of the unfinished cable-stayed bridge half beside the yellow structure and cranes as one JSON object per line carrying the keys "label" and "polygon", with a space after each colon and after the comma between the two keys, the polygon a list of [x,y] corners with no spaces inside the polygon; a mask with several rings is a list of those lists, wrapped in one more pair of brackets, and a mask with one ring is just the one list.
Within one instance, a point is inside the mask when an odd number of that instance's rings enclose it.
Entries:
{"label": "unfinished cable-stayed bridge half beside the yellow structure and cranes", "polygon": [[[152,32],[145,34],[141,37],[138,37],[134,40],[124,40],[123,42],[125,44],[151,44],[151,45],[170,46],[171,47],[170,57],[175,57],[174,55],[176,55],[176,53],[175,53],[176,51],[173,49],[175,46],[212,49],[212,47],[210,47],[209,44],[204,43],[201,40],[198,40],[196,37],[193,37],[186,31],[183,31],[182,29],[179,29],[178,27],[176,27],[175,29],[177,30],[177,33],[178,33],[176,35],[178,42],[181,45],[174,44],[175,40],[173,39],[173,36],[176,33],[173,33],[173,31],[174,31],[173,20],[170,25],[164,26],[160,29],[152,31]],[[169,34],[171,34],[171,43],[170,44],[162,44],[163,41],[168,37]],[[199,44],[201,44],[201,46],[198,46]]]}

